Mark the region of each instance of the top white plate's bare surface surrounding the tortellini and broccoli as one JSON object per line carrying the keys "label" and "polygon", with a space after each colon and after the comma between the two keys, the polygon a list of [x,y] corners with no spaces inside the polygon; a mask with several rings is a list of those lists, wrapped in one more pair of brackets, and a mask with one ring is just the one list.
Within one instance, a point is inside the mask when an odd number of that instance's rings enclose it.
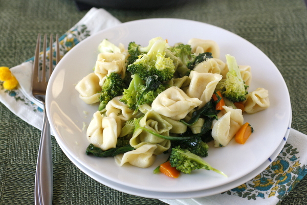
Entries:
{"label": "top white plate's bare surface surrounding the tortellini and broccoli", "polygon": [[[151,167],[140,169],[133,166],[118,167],[113,158],[97,158],[85,155],[88,142],[83,123],[89,124],[98,105],[86,105],[78,97],[74,86],[87,74],[93,72],[98,44],[104,38],[125,46],[130,41],[146,46],[148,41],[161,36],[170,45],[186,43],[190,38],[211,39],[218,43],[221,59],[235,56],[238,64],[252,67],[250,91],[257,87],[269,90],[269,109],[245,115],[254,133],[245,145],[231,141],[226,147],[209,149],[206,161],[222,170],[228,178],[213,171],[197,170],[183,174],[178,179],[152,174],[152,170],[165,161],[166,155],[157,157]],[[263,164],[277,149],[288,127],[291,115],[288,88],[273,62],[247,40],[224,29],[202,22],[183,19],[145,19],[126,22],[103,30],[76,45],[59,62],[54,70],[46,96],[47,114],[55,138],[60,147],[78,163],[96,174],[115,183],[147,191],[191,192],[210,189],[230,183]],[[85,115],[84,111],[89,114]]]}

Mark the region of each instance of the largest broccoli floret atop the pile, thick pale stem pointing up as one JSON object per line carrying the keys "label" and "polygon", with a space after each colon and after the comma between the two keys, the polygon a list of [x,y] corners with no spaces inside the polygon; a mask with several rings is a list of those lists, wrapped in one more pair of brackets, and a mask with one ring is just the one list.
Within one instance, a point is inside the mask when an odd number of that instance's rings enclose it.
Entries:
{"label": "largest broccoli floret atop the pile, thick pale stem pointing up", "polygon": [[166,49],[165,40],[156,40],[146,54],[141,54],[134,63],[128,65],[127,70],[131,74],[138,74],[143,80],[155,75],[161,82],[170,80],[175,72],[175,66],[170,58],[165,57]]}

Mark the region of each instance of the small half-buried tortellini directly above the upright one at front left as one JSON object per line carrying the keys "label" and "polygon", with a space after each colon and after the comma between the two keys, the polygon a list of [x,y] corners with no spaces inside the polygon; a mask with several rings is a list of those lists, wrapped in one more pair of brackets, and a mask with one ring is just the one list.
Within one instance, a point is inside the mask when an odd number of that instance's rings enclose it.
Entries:
{"label": "small half-buried tortellini directly above the upright one at front left", "polygon": [[109,116],[111,113],[115,113],[121,120],[128,121],[133,118],[134,110],[129,109],[125,103],[119,101],[121,98],[122,96],[117,96],[106,104],[105,115]]}

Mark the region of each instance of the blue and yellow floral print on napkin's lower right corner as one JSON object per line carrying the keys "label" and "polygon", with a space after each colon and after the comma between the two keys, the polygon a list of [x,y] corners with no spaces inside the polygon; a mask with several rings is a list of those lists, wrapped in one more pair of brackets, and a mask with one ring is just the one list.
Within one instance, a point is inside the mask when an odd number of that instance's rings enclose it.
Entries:
{"label": "blue and yellow floral print on napkin's lower right corner", "polygon": [[299,152],[286,143],[276,160],[263,172],[247,183],[222,194],[234,195],[248,200],[257,198],[279,199],[286,197],[307,173],[307,166],[300,163]]}

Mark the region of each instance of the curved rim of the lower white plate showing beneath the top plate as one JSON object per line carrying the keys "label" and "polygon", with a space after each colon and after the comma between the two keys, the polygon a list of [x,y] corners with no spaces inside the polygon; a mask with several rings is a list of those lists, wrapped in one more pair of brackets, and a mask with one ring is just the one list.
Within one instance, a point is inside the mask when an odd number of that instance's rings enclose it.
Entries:
{"label": "curved rim of the lower white plate showing beneath the top plate", "polygon": [[153,192],[153,191],[146,191],[141,189],[135,189],[131,187],[127,187],[118,183],[115,183],[114,181],[108,180],[95,172],[87,169],[86,167],[82,166],[80,163],[78,163],[74,157],[72,157],[67,151],[64,150],[64,153],[68,156],[68,158],[85,174],[92,177],[99,183],[111,187],[113,189],[116,189],[121,192],[125,192],[127,194],[132,194],[136,196],[141,197],[147,197],[147,198],[158,198],[158,199],[185,199],[185,198],[199,198],[199,197],[206,197],[211,196],[214,194],[219,194],[225,191],[228,191],[230,189],[233,189],[237,186],[240,186],[244,183],[246,183],[248,180],[254,178],[256,175],[264,171],[273,161],[274,159],[279,155],[280,151],[282,150],[284,144],[286,144],[288,140],[288,136],[290,133],[290,127],[291,127],[291,119],[289,121],[288,129],[286,134],[284,135],[283,140],[275,150],[275,152],[266,160],[265,163],[260,165],[258,168],[256,168],[254,171],[248,173],[247,175],[232,181],[231,183],[228,183],[226,185],[214,187],[211,189],[205,189],[205,190],[199,190],[199,191],[192,191],[192,192]]}

